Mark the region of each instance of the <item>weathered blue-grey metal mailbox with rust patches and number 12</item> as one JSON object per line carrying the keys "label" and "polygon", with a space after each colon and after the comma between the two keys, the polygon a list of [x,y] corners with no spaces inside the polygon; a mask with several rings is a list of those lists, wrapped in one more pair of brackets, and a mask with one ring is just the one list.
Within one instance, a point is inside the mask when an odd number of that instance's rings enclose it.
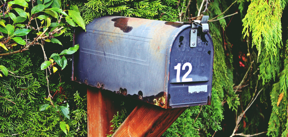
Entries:
{"label": "weathered blue-grey metal mailbox with rust patches and number 12", "polygon": [[163,108],[210,105],[214,50],[207,20],[96,18],[86,32],[75,32],[72,80]]}

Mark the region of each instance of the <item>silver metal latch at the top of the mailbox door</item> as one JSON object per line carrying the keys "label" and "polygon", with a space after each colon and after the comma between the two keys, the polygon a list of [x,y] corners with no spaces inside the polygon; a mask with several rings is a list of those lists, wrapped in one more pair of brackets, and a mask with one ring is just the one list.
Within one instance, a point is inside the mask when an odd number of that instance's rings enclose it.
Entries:
{"label": "silver metal latch at the top of the mailbox door", "polygon": [[209,25],[208,25],[209,16],[203,16],[202,20],[193,20],[191,21],[191,32],[190,32],[190,47],[197,46],[197,30],[199,26],[202,26],[203,32],[209,32]]}

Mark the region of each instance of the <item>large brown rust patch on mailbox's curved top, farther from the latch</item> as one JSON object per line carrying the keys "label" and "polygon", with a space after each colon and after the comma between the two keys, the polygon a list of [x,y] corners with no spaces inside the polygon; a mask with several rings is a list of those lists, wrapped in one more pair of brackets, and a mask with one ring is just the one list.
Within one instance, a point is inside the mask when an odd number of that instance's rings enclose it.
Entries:
{"label": "large brown rust patch on mailbox's curved top, farther from the latch", "polygon": [[129,18],[126,17],[118,17],[111,19],[111,21],[115,22],[114,27],[120,28],[120,30],[124,33],[128,33],[133,29],[132,26],[128,26],[128,20]]}

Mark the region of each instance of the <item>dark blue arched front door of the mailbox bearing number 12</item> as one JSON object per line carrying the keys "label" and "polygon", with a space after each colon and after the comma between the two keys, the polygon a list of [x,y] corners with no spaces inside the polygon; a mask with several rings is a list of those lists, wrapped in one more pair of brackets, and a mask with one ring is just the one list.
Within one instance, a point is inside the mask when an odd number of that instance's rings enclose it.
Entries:
{"label": "dark blue arched front door of the mailbox bearing number 12", "polygon": [[170,57],[169,106],[210,105],[213,75],[213,42],[198,29],[197,46],[190,48],[191,28],[176,38]]}

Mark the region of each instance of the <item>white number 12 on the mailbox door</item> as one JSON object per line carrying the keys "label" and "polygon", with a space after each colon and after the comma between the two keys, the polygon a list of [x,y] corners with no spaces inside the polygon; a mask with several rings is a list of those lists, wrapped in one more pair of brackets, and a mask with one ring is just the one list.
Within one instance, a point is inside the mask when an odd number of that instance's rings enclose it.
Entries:
{"label": "white number 12 on the mailbox door", "polygon": [[[182,78],[182,82],[191,82],[192,78],[186,78],[191,70],[192,70],[192,65],[187,62],[183,65],[182,70],[185,70],[186,66],[189,67],[188,71],[184,74],[183,78]],[[177,66],[174,66],[174,69],[177,69],[177,73],[176,73],[176,81],[180,82],[180,68],[181,68],[181,63],[178,63]]]}

